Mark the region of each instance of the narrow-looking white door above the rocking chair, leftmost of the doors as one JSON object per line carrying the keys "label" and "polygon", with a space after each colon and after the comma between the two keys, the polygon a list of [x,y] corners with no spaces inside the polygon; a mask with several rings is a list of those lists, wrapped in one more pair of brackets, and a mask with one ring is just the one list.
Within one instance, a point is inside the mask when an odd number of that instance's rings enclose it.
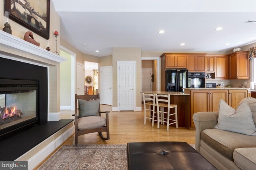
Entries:
{"label": "narrow-looking white door above the rocking chair, leftmost of the doors", "polygon": [[84,64],[76,63],[76,94],[84,95]]}

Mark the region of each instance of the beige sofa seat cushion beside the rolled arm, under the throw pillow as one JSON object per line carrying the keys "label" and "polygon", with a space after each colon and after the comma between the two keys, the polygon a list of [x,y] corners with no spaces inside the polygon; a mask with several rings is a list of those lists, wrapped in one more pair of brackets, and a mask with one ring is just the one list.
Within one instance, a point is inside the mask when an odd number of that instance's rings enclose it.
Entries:
{"label": "beige sofa seat cushion beside the rolled arm, under the throw pillow", "polygon": [[201,132],[201,139],[214,150],[232,161],[234,161],[234,149],[256,147],[256,136],[249,136],[219,129],[203,130]]}

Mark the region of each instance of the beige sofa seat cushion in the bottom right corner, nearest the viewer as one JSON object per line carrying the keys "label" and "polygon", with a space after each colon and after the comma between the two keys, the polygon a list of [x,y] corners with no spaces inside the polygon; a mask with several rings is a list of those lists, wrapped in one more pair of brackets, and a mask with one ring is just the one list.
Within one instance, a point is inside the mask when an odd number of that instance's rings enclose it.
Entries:
{"label": "beige sofa seat cushion in the bottom right corner, nearest the viewer", "polygon": [[242,170],[256,169],[256,148],[236,148],[233,157]]}

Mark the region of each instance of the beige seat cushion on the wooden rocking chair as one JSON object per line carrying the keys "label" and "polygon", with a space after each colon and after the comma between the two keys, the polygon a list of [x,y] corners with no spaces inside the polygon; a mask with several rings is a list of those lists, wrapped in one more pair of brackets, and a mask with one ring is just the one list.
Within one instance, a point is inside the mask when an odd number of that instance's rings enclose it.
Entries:
{"label": "beige seat cushion on the wooden rocking chair", "polygon": [[106,118],[100,116],[87,116],[78,119],[78,129],[92,129],[106,125]]}

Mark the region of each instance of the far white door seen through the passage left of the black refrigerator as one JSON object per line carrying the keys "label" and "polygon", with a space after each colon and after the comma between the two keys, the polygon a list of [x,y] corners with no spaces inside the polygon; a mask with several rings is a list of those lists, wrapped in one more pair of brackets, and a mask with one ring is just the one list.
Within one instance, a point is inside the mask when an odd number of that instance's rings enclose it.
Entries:
{"label": "far white door seen through the passage left of the black refrigerator", "polygon": [[[141,91],[149,92],[152,91],[151,81],[152,68],[142,68],[141,70]],[[143,98],[141,99],[143,101]]]}

